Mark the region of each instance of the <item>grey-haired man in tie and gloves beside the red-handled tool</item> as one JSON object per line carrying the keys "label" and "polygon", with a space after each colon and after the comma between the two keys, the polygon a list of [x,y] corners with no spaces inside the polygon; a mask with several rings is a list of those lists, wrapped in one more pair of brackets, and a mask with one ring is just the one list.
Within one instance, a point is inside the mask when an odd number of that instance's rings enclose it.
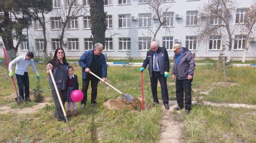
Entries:
{"label": "grey-haired man in tie and gloves beside the red-handled tool", "polygon": [[147,56],[143,62],[140,72],[145,70],[148,65],[148,72],[151,82],[151,92],[153,95],[153,106],[158,104],[157,98],[157,80],[161,85],[161,94],[164,107],[169,110],[169,95],[167,89],[166,78],[169,76],[169,57],[166,48],[159,47],[157,41],[150,44],[150,50],[147,51]]}

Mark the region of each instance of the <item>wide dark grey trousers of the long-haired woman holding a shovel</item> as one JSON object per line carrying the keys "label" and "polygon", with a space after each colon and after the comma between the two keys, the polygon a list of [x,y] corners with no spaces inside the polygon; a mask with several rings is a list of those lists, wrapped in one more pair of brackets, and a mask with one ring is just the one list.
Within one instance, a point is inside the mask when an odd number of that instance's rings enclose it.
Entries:
{"label": "wide dark grey trousers of the long-haired woman holding a shovel", "polygon": [[[65,90],[58,90],[60,97],[61,97],[61,101],[64,107],[65,101],[66,101],[66,89]],[[65,121],[64,118],[64,113],[61,109],[61,104],[60,101],[58,99],[58,95],[56,93],[55,90],[52,90],[52,98],[54,100],[55,103],[55,111],[54,111],[54,117],[57,118],[58,121]]]}

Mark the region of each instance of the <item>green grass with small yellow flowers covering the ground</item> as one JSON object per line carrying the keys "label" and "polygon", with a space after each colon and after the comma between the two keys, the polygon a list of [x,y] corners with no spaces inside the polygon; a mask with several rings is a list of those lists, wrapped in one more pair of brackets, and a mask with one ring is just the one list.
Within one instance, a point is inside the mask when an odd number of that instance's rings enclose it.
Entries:
{"label": "green grass with small yellow flowers covering the ground", "polygon": [[[74,73],[79,78],[81,90],[81,67],[71,64]],[[41,84],[45,97],[52,97],[49,89],[49,76],[46,75],[45,64],[36,64],[41,76]],[[107,82],[122,93],[129,93],[134,97],[141,96],[140,67],[108,67]],[[170,70],[172,66],[170,67]],[[0,67],[1,71],[5,71]],[[227,83],[223,83],[223,73],[213,65],[198,65],[192,82],[192,98],[201,96],[202,100],[214,102],[243,103],[256,105],[256,67],[227,67]],[[153,102],[151,95],[148,71],[143,72],[145,103]],[[12,81],[5,72],[0,73],[0,106],[15,105],[15,91]],[[35,73],[29,67],[30,90],[36,86]],[[16,79],[15,79],[16,81]],[[167,79],[169,99],[175,98],[174,80]],[[160,86],[157,87],[158,98],[161,99]],[[203,92],[208,92],[204,94]],[[90,101],[91,90],[88,90]],[[80,109],[77,104],[79,116],[70,118],[70,126],[74,134],[67,129],[67,123],[56,121],[53,113],[54,104],[47,104],[39,112],[33,114],[7,113],[0,115],[0,142],[77,142],[90,143],[90,122],[95,116],[97,136],[99,143],[156,143],[160,139],[160,106],[143,112],[123,110],[109,110],[103,103],[111,98],[122,96],[99,83],[97,102],[98,107],[88,104]],[[52,102],[52,101],[51,101]],[[32,106],[34,102],[26,107]],[[21,109],[22,110],[22,109]],[[255,143],[256,109],[211,107],[192,105],[188,116],[172,114],[177,121],[184,123],[183,133],[180,134],[184,143]]]}

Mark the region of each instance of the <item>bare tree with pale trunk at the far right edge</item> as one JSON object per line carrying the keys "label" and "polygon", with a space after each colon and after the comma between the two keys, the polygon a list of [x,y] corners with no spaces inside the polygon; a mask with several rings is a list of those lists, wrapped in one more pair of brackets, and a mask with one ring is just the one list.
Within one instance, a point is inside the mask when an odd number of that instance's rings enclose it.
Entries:
{"label": "bare tree with pale trunk at the far right edge", "polygon": [[245,48],[244,48],[244,54],[242,58],[242,62],[245,62],[245,57],[247,50],[249,49],[249,41],[250,37],[253,37],[253,30],[255,31],[255,22],[256,22],[256,0],[253,1],[251,4],[250,9],[245,14],[246,21],[243,24],[242,33],[246,33],[246,39],[245,39]]}

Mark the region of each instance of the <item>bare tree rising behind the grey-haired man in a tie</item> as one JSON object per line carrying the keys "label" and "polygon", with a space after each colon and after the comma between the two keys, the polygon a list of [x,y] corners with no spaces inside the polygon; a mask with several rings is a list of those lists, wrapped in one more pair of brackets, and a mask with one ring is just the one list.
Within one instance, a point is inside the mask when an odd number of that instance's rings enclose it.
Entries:
{"label": "bare tree rising behind the grey-haired man in a tie", "polygon": [[166,0],[139,0],[139,3],[148,5],[149,8],[147,10],[151,11],[153,14],[153,24],[156,25],[156,29],[153,30],[150,28],[151,26],[147,25],[147,29],[154,35],[152,41],[156,39],[157,32],[162,26],[165,26],[166,31],[170,31],[170,29],[167,27],[171,23],[171,19],[168,18],[168,11],[172,5],[165,3],[165,1]]}

